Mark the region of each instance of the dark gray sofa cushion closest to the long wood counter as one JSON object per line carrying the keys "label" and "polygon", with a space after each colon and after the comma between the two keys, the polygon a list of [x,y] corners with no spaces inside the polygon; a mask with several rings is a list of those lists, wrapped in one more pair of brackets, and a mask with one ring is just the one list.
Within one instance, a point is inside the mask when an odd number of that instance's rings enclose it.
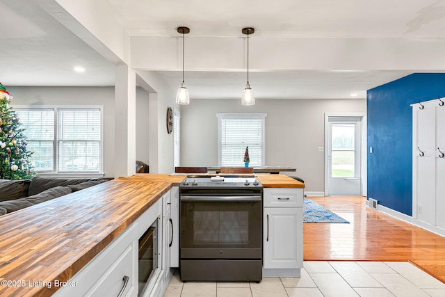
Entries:
{"label": "dark gray sofa cushion closest to the long wood counter", "polygon": [[9,214],[10,212],[24,209],[25,207],[31,207],[32,205],[58,198],[69,193],[71,193],[71,188],[67,188],[66,186],[56,186],[54,188],[49,188],[42,193],[38,193],[29,197],[2,201],[0,202],[0,208],[6,209],[7,213]]}

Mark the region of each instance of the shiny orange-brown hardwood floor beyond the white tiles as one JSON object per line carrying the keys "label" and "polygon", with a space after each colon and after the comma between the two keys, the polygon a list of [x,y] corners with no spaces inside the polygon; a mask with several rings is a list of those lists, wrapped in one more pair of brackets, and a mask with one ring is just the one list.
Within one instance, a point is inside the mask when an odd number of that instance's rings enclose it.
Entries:
{"label": "shiny orange-brown hardwood floor beyond the white tiles", "polygon": [[362,196],[308,197],[344,223],[304,223],[305,261],[407,261],[445,282],[445,238],[365,206]]}

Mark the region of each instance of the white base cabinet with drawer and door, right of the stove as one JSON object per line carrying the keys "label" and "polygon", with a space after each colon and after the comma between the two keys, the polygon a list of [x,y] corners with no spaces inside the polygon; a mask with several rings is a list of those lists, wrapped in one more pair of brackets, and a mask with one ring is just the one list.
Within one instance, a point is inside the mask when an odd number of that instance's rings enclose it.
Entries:
{"label": "white base cabinet with drawer and door, right of the stove", "polygon": [[302,207],[302,188],[264,188],[264,277],[300,276]]}

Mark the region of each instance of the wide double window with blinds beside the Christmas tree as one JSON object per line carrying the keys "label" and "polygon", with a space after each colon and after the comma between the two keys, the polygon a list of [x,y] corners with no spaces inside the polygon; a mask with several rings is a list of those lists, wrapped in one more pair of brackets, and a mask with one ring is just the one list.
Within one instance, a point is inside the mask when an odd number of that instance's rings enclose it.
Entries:
{"label": "wide double window with blinds beside the Christmas tree", "polygon": [[15,107],[37,172],[102,171],[102,107]]}

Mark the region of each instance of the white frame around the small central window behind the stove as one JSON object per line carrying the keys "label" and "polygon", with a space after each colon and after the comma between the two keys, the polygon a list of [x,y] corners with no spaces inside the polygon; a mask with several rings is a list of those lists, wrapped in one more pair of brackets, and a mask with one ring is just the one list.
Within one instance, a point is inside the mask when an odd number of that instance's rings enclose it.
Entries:
{"label": "white frame around the small central window behind the stove", "polygon": [[267,113],[216,113],[218,117],[218,166],[223,163],[223,119],[261,120],[261,166],[266,163],[266,117]]}

